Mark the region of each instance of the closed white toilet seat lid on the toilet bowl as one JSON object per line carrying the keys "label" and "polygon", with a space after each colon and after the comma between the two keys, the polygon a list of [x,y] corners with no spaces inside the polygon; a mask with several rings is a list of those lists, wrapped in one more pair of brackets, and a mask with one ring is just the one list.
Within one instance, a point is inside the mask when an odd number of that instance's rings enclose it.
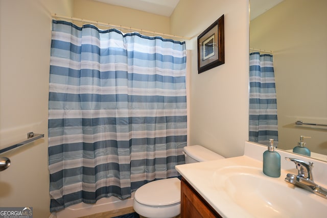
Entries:
{"label": "closed white toilet seat lid on the toilet bowl", "polygon": [[134,200],[151,207],[180,204],[180,180],[170,178],[149,182],[135,191]]}

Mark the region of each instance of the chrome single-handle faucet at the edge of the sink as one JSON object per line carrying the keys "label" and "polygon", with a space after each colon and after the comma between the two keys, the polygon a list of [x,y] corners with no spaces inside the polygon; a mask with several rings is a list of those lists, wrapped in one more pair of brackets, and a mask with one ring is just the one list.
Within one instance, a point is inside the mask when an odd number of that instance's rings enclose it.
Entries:
{"label": "chrome single-handle faucet at the edge of the sink", "polygon": [[294,162],[296,165],[296,169],[298,170],[297,176],[293,174],[287,174],[285,178],[286,182],[289,182],[300,188],[306,189],[312,193],[315,193],[318,196],[327,199],[327,189],[320,187],[313,181],[313,176],[312,176],[313,162],[305,162],[302,160],[289,158],[289,157],[286,157],[285,159]]}

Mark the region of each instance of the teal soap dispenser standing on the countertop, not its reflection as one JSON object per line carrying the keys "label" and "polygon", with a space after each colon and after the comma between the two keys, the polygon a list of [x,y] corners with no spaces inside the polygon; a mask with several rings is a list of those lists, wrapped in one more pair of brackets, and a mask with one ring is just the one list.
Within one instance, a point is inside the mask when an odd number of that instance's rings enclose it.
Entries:
{"label": "teal soap dispenser standing on the countertop, not its reflection", "polygon": [[269,139],[268,150],[263,154],[263,172],[270,177],[281,176],[281,155],[275,151],[274,139]]}

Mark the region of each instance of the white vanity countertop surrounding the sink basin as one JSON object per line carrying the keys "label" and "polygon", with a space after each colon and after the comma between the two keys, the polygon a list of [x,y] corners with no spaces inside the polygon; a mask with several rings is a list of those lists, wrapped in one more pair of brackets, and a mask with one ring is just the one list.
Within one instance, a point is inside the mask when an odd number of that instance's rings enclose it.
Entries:
{"label": "white vanity countertop surrounding the sink basin", "polygon": [[[248,142],[246,142],[248,143]],[[248,144],[246,144],[246,147]],[[247,148],[246,148],[247,149]],[[255,148],[256,149],[256,148]],[[190,164],[182,164],[177,165],[176,169],[181,174],[181,176],[188,181],[193,188],[223,217],[255,217],[253,214],[247,212],[244,208],[236,204],[231,200],[230,197],[226,195],[225,192],[219,191],[216,188],[217,183],[215,184],[215,178],[219,176],[218,171],[223,167],[232,167],[232,166],[247,166],[262,169],[262,148],[259,147],[259,151],[256,150],[253,154],[257,153],[256,156],[260,157],[249,157],[251,155],[244,155],[240,157],[232,157],[220,160],[206,161],[206,162],[198,162],[198,163],[190,163]],[[245,154],[248,154],[249,151],[246,151]],[[251,152],[252,153],[252,152]],[[283,153],[283,152],[281,152]],[[286,153],[287,156],[293,156]],[[283,153],[282,159],[284,159],[285,154]],[[301,158],[298,158],[301,159]],[[281,169],[281,177],[272,178],[263,174],[262,170],[256,171],[259,176],[265,176],[267,179],[272,182],[282,182],[283,186],[287,186],[287,188],[294,188],[292,184],[289,184],[284,181],[287,173],[292,173],[297,175],[297,170],[295,168],[294,163],[285,163],[288,161],[282,160],[282,169]],[[319,162],[319,161],[318,161]],[[285,166],[283,168],[283,165]],[[326,168],[325,164],[323,164],[323,168]],[[323,169],[321,172],[324,172]],[[320,177],[321,175],[319,175]],[[326,178],[325,176],[323,176]],[[273,188],[273,187],[272,187]],[[313,193],[309,191],[303,190],[301,188],[295,187],[298,191],[303,192],[305,198],[321,198],[319,196],[315,196]],[[281,193],[283,195],[283,193]],[[327,205],[327,200],[321,198],[318,199],[322,204]],[[300,209],[300,208],[299,208]],[[322,212],[322,211],[321,211]],[[287,214],[284,217],[289,217]]]}

